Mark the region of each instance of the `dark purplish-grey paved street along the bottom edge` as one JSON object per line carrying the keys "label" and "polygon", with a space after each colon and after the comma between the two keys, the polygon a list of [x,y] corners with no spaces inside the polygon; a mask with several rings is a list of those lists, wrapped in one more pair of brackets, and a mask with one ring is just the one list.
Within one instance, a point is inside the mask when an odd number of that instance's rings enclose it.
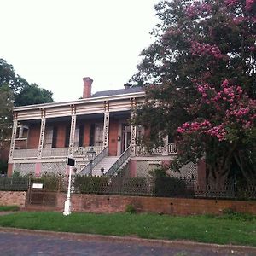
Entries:
{"label": "dark purplish-grey paved street along the bottom edge", "polygon": [[236,251],[218,252],[216,248],[207,247],[166,247],[143,245],[139,242],[120,241],[84,241],[68,237],[45,236],[20,232],[0,232],[0,255],[94,255],[94,256],[137,256],[137,255],[255,255]]}

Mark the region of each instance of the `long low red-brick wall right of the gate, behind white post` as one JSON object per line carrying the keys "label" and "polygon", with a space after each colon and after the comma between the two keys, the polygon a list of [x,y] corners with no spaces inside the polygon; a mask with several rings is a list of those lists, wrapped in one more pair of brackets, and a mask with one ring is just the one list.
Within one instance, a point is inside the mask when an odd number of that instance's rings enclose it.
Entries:
{"label": "long low red-brick wall right of the gate, behind white post", "polygon": [[[66,200],[64,194],[57,198],[56,210],[63,211]],[[172,215],[193,215],[221,213],[224,209],[256,214],[256,201],[204,200],[185,198],[119,196],[119,195],[72,195],[74,212],[125,212],[131,204],[137,212],[154,212]]]}

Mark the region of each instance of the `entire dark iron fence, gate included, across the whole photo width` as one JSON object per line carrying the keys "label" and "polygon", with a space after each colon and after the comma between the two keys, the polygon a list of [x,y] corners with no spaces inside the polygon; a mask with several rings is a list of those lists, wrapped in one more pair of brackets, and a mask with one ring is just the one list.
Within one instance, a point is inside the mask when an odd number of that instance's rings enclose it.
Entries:
{"label": "entire dark iron fence, gate included, across the whole photo width", "polygon": [[[32,196],[52,196],[51,193],[66,192],[68,177],[65,175],[44,175],[43,177],[0,177],[0,190],[33,191]],[[42,184],[42,189],[33,184]],[[42,193],[44,191],[44,193]],[[255,200],[256,182],[237,183],[228,180],[222,186],[201,183],[193,177],[90,177],[74,176],[74,193],[102,195],[148,195],[164,197],[214,198]],[[47,193],[46,193],[47,192]],[[41,195],[42,194],[42,195]],[[36,200],[36,198],[34,198]],[[40,199],[41,200],[41,199]],[[47,201],[47,200],[46,200]],[[49,199],[49,201],[54,201]]]}

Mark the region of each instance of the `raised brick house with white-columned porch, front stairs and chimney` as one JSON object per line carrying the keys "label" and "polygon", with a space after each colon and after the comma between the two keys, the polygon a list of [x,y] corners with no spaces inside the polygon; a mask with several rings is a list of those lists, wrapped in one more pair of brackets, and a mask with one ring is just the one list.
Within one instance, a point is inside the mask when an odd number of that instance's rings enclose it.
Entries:
{"label": "raised brick house with white-columned porch, front stairs and chimney", "polygon": [[[137,145],[143,127],[129,124],[132,109],[144,101],[141,87],[99,91],[91,95],[93,80],[84,78],[83,98],[14,108],[8,175],[14,171],[40,175],[66,172],[67,156],[76,160],[77,173],[89,173],[87,151],[93,147],[93,175],[112,175],[125,168],[131,177],[176,155],[173,143],[150,153]],[[197,176],[197,166],[186,166]],[[185,170],[184,169],[184,170]],[[181,173],[181,175],[183,175]]]}

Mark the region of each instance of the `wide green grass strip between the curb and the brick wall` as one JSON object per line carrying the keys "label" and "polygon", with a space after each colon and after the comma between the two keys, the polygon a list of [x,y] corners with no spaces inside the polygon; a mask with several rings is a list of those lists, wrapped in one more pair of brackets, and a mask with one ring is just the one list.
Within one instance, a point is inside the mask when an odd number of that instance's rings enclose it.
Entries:
{"label": "wide green grass strip between the curb and the brick wall", "polygon": [[234,215],[173,217],[148,213],[72,213],[63,216],[61,212],[16,212],[1,216],[0,226],[256,247],[256,217]]}

